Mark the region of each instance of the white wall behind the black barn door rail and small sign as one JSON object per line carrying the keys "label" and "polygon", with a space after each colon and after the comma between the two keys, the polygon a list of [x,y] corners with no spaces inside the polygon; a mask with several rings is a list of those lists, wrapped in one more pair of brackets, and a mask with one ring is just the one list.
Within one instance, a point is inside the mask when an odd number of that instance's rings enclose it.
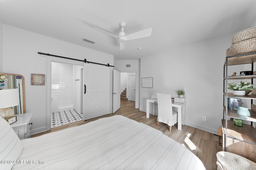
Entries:
{"label": "white wall behind the black barn door rail and small sign", "polygon": [[[40,51],[80,60],[86,58],[87,61],[97,63],[114,63],[112,55],[3,24],[3,72],[22,74],[25,78],[26,112],[34,112],[32,133],[46,130],[46,87],[50,82],[46,81],[45,86],[30,84],[31,73],[47,72],[47,57],[39,55]],[[65,61],[68,63],[70,60]],[[47,76],[49,75],[46,74],[46,80]],[[110,89],[111,86],[112,84]],[[112,95],[110,96],[112,105]]]}

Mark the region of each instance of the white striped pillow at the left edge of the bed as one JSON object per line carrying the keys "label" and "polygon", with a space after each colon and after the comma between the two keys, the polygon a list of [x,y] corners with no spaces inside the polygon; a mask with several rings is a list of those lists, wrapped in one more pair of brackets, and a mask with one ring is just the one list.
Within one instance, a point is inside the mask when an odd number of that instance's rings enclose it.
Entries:
{"label": "white striped pillow at the left edge of the bed", "polygon": [[9,125],[9,123],[0,117],[0,169],[10,170],[20,155],[23,145]]}

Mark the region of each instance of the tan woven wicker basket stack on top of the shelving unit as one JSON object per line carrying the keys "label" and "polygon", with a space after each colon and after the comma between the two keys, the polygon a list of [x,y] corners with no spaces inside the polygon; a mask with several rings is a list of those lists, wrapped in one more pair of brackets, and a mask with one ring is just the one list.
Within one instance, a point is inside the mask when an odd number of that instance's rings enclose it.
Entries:
{"label": "tan woven wicker basket stack on top of the shelving unit", "polygon": [[256,52],[256,27],[240,31],[232,36],[232,45],[226,57]]}

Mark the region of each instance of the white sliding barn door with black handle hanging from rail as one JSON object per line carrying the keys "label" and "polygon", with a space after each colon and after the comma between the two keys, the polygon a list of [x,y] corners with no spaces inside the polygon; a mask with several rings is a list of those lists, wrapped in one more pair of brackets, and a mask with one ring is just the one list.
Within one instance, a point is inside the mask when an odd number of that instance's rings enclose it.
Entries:
{"label": "white sliding barn door with black handle hanging from rail", "polygon": [[84,63],[83,115],[84,120],[109,114],[110,68]]}

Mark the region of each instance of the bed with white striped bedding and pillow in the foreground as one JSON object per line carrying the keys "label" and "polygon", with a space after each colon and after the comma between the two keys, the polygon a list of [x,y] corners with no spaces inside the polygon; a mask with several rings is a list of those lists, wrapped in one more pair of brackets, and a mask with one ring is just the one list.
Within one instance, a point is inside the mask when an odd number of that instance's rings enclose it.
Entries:
{"label": "bed with white striped bedding and pillow in the foreground", "polygon": [[23,140],[1,118],[0,129],[0,169],[205,169],[180,143],[122,115]]}

